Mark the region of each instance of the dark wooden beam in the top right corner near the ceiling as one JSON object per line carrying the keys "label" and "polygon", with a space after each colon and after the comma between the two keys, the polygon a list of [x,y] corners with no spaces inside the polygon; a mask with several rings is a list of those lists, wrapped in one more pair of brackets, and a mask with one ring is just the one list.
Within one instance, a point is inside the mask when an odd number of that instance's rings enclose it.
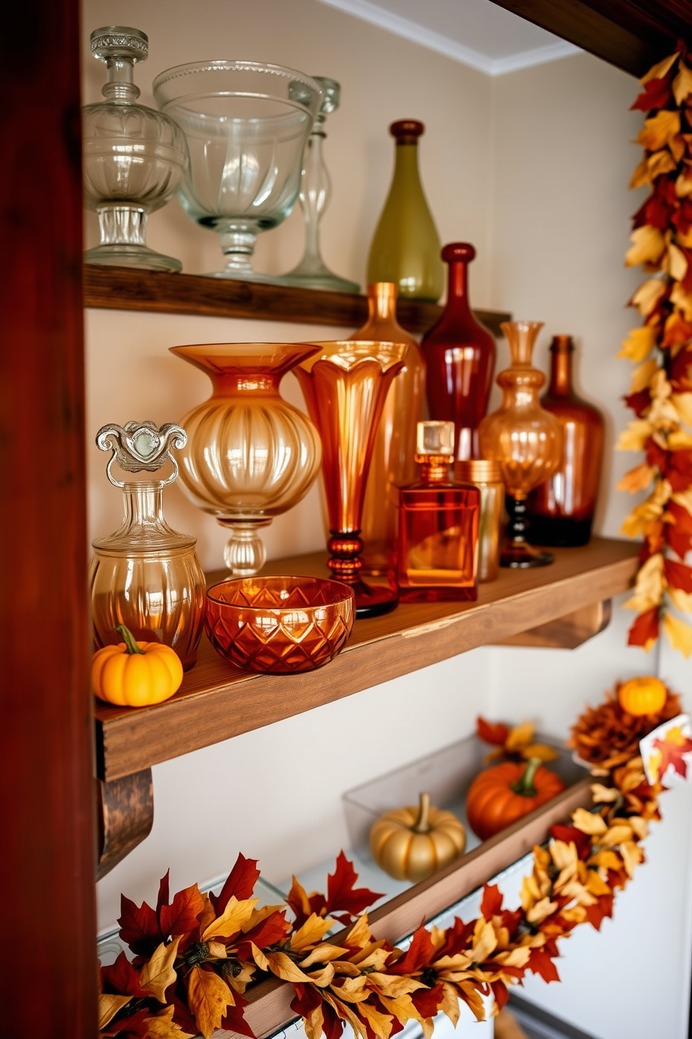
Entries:
{"label": "dark wooden beam in the top right corner near the ceiling", "polygon": [[633,76],[692,39],[689,0],[493,0]]}

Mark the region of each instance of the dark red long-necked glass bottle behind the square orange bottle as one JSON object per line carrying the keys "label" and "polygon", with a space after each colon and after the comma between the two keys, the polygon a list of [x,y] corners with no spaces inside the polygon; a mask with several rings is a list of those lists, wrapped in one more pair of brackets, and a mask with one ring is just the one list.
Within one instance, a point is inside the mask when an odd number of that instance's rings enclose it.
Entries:
{"label": "dark red long-necked glass bottle behind the square orange bottle", "polygon": [[478,457],[478,425],[488,410],[495,370],[495,340],[469,303],[468,267],[475,255],[468,242],[450,242],[442,249],[449,270],[447,302],[420,344],[430,417],[454,423],[458,459]]}

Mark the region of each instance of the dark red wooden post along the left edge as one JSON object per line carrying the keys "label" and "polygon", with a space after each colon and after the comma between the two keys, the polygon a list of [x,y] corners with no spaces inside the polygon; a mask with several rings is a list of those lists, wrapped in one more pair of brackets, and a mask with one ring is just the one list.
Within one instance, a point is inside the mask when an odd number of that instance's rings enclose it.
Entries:
{"label": "dark red wooden post along the left edge", "polygon": [[0,33],[0,1035],[96,1031],[77,0]]}

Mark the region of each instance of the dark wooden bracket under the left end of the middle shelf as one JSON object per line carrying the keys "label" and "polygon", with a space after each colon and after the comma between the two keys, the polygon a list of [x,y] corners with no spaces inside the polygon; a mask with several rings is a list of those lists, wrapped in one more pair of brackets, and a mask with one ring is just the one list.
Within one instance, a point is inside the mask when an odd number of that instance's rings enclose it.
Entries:
{"label": "dark wooden bracket under the left end of the middle shelf", "polygon": [[151,832],[154,783],[151,769],[111,782],[95,782],[100,817],[96,880],[101,880]]}

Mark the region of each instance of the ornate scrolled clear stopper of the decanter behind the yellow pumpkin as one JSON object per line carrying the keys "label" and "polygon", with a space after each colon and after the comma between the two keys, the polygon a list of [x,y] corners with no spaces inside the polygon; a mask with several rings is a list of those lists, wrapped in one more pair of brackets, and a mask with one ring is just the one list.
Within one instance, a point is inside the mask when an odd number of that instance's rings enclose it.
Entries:
{"label": "ornate scrolled clear stopper of the decanter behind the yellow pumpkin", "polygon": [[173,422],[167,422],[159,427],[150,420],[146,422],[133,420],[124,426],[115,424],[102,426],[96,433],[96,447],[102,451],[112,451],[106,467],[106,475],[115,487],[123,487],[124,483],[116,480],[111,472],[114,461],[117,461],[126,473],[140,473],[142,470],[156,473],[170,460],[173,473],[163,481],[163,485],[172,483],[177,476],[177,461],[172,454],[172,448],[179,451],[187,443],[188,434],[182,426]]}

